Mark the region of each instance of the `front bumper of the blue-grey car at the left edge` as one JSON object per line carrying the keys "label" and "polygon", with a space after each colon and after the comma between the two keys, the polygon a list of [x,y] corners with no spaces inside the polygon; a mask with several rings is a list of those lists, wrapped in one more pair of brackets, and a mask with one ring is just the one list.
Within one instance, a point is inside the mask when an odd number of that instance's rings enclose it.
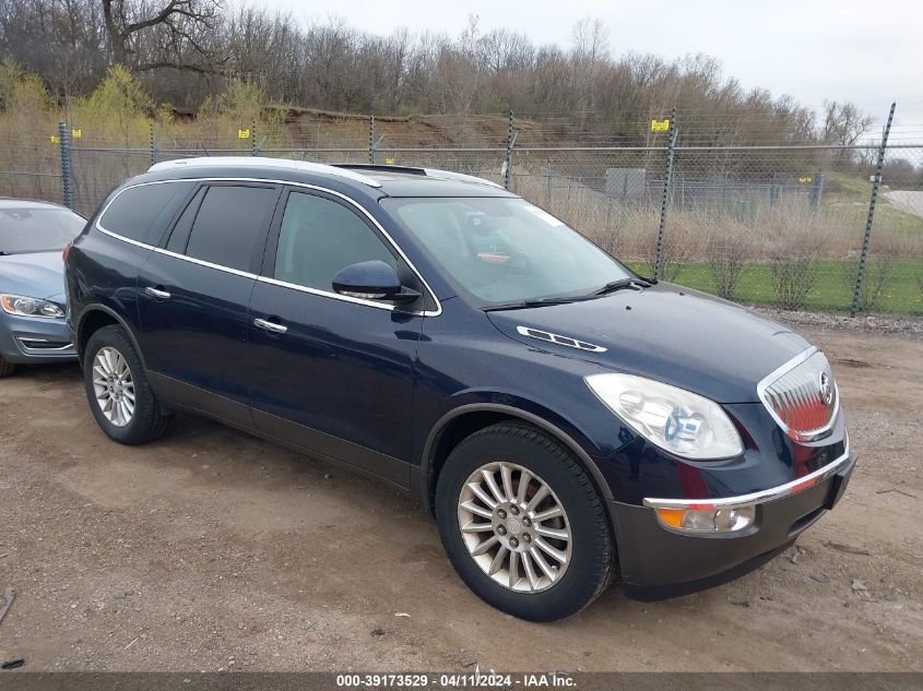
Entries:
{"label": "front bumper of the blue-grey car at the left edge", "polygon": [[64,319],[0,313],[0,355],[8,362],[42,365],[76,359]]}

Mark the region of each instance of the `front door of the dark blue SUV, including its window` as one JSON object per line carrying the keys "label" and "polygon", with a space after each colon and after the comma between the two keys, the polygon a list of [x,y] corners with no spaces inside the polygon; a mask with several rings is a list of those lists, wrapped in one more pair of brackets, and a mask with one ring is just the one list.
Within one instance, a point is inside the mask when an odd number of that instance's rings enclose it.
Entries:
{"label": "front door of the dark blue SUV, including its window", "polygon": [[250,299],[252,415],[267,433],[406,486],[423,308],[333,291],[334,274],[369,260],[417,287],[352,204],[288,192]]}

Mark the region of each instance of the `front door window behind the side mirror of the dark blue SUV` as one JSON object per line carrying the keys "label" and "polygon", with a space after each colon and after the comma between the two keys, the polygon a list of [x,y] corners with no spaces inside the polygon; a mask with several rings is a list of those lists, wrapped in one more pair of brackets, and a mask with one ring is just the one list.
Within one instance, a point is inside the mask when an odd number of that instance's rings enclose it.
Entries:
{"label": "front door window behind the side mirror of the dark blue SUV", "polygon": [[398,269],[394,255],[355,213],[323,196],[288,195],[275,254],[277,279],[331,291],[341,269],[376,259]]}

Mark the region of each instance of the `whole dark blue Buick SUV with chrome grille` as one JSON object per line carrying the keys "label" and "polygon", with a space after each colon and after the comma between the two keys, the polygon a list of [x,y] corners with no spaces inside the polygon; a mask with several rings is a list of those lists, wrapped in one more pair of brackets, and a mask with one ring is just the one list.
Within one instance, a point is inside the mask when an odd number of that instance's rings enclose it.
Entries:
{"label": "whole dark blue Buick SUV with chrome grille", "polygon": [[754,569],[854,464],[816,347],[478,178],[158,164],[100,205],[67,283],[111,439],[191,412],[371,474],[524,619],[572,615],[615,573],[660,598]]}

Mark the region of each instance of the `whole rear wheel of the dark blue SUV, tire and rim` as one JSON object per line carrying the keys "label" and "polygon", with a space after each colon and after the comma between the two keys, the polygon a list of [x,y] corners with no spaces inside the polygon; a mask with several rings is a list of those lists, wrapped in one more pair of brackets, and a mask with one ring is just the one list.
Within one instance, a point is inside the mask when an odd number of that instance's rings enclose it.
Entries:
{"label": "whole rear wheel of the dark blue SUV, tire and rim", "polygon": [[154,396],[141,358],[121,326],[104,326],[90,336],[83,380],[93,417],[110,439],[143,444],[167,430],[171,416]]}

